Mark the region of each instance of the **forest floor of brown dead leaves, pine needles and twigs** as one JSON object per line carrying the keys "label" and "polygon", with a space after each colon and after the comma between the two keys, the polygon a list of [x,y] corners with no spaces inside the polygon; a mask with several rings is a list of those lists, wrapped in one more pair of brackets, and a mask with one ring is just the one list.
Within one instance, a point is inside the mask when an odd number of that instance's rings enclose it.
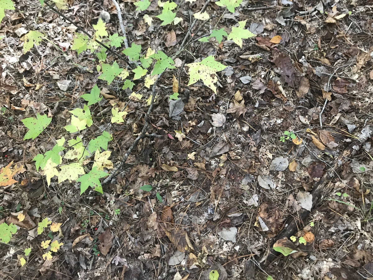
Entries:
{"label": "forest floor of brown dead leaves, pine needles and twigs", "polygon": [[[193,14],[206,0],[176,1],[182,20],[163,26],[155,18],[157,1],[142,12],[134,2],[119,2],[129,46],[177,55],[176,67],[157,81],[151,136],[102,184],[102,195],[81,195],[81,183],[69,178],[52,176],[48,186],[33,159],[62,137],[78,135],[86,145],[106,130],[116,167],[145,125],[151,87],[137,80],[122,90],[119,78],[110,85],[98,79],[97,56],[71,50],[79,30],[39,1],[19,0],[15,10],[5,10],[0,167],[5,172],[11,163],[15,182],[0,189],[0,224],[17,231],[0,243],[0,278],[373,279],[372,135],[339,161],[373,124],[372,1],[244,0],[234,13],[211,1],[210,19],[191,33]],[[60,12],[90,34],[101,11],[110,15],[107,32],[121,34],[112,1],[69,0],[67,6]],[[150,26],[144,15],[153,18]],[[242,47],[226,37],[182,45],[212,29],[229,33],[239,21],[256,34]],[[29,30],[49,39],[23,53],[20,39]],[[216,93],[202,81],[188,85],[187,64],[208,56],[227,66],[217,72]],[[128,67],[110,52],[104,60]],[[93,125],[69,133],[63,129],[69,111],[83,108],[79,97],[95,84],[103,99],[90,106]],[[169,105],[175,88],[184,105],[179,111]],[[127,112],[120,124],[110,122],[115,105]],[[51,124],[23,140],[21,121],[37,113]],[[84,168],[93,161],[87,156]],[[326,187],[313,197],[320,182]],[[58,230],[46,224],[38,234],[45,218]],[[278,240],[293,220],[297,228]],[[63,245],[53,251],[46,240]],[[282,252],[297,252],[274,255],[275,242]]]}

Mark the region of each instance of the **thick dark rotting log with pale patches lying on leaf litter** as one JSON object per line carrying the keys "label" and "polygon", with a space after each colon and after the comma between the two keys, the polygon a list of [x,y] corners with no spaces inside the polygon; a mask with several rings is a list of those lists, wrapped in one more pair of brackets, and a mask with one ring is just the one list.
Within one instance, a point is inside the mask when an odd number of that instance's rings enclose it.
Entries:
{"label": "thick dark rotting log with pale patches lying on leaf litter", "polygon": [[[322,202],[323,199],[329,196],[332,188],[329,187],[329,184],[333,182],[336,174],[341,174],[341,168],[343,165],[350,161],[353,156],[356,155],[358,150],[360,150],[361,146],[372,137],[373,134],[373,125],[367,125],[364,127],[361,132],[357,135],[357,139],[353,140],[351,144],[345,149],[340,155],[335,158],[334,164],[328,170],[329,172],[325,172],[325,174],[321,177],[319,183],[313,188],[311,191],[312,195],[312,205],[313,208],[316,208],[317,205]],[[330,172],[331,171],[331,172]],[[330,174],[333,174],[330,176]],[[270,246],[269,252],[264,252],[258,259],[257,262],[260,263],[260,267],[266,267],[269,265],[276,256],[280,255],[279,252],[276,252],[272,249],[273,244],[279,239],[284,237],[290,238],[290,236],[294,235],[294,233],[301,228],[304,227],[305,222],[307,220],[308,214],[310,211],[306,209],[301,209],[298,212],[297,217],[289,217],[288,220],[285,222],[285,226],[280,233],[276,236],[276,239],[273,241],[272,246]]]}

